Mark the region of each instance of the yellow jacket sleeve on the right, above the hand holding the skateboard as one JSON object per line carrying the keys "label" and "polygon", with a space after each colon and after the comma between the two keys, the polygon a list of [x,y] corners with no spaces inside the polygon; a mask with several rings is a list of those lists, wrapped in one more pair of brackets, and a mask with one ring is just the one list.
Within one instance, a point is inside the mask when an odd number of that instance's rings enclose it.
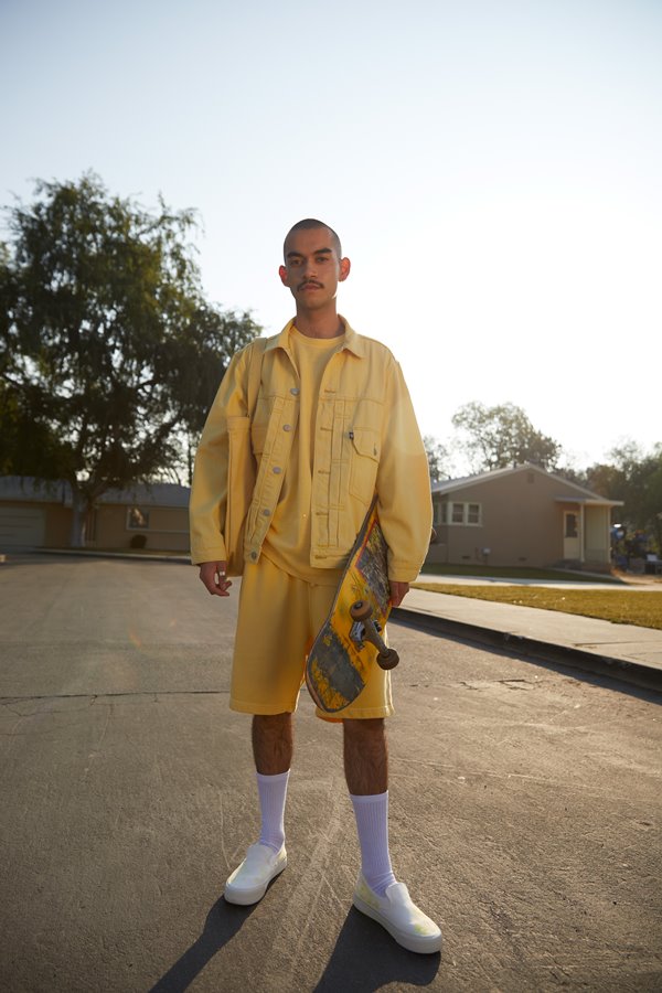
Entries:
{"label": "yellow jacket sleeve on the right, above the hand holding the skateboard", "polygon": [[433,498],[427,455],[409,391],[396,362],[386,382],[377,499],[388,545],[388,578],[412,583],[430,544]]}

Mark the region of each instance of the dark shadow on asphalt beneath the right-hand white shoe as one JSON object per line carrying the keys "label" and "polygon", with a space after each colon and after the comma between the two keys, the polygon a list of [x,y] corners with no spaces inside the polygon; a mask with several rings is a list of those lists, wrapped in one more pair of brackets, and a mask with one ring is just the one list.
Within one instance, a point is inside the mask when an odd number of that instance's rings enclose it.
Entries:
{"label": "dark shadow on asphalt beneath the right-hand white shoe", "polygon": [[417,955],[401,948],[378,923],[352,907],[314,993],[371,993],[391,983],[427,986],[440,962],[439,953]]}

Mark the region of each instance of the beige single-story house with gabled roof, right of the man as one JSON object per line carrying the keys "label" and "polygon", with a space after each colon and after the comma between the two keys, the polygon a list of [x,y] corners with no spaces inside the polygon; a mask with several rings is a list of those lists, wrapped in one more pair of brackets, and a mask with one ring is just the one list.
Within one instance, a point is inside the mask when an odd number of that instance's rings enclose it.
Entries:
{"label": "beige single-story house with gabled roof, right of the man", "polygon": [[427,560],[606,570],[613,506],[528,463],[436,482]]}

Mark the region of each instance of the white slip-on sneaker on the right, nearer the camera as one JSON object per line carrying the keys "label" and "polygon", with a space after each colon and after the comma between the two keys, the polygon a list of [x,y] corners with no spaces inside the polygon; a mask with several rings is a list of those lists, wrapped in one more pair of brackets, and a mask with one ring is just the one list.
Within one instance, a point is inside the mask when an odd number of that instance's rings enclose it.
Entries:
{"label": "white slip-on sneaker on the right, nearer the camera", "polygon": [[354,907],[386,928],[398,944],[424,954],[441,951],[441,931],[419,910],[404,883],[392,883],[383,897],[370,888],[363,874],[354,889]]}

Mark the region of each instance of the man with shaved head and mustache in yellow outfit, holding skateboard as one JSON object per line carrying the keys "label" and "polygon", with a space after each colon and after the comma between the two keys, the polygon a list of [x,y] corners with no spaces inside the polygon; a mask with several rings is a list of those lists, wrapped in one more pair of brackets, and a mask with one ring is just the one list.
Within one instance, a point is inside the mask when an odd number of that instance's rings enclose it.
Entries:
{"label": "man with shaved head and mustache in yellow outfit, holding skateboard", "polygon": [[[338,286],[350,275],[338,235],[320,221],[300,221],[284,256],[279,275],[295,298],[296,318],[267,340],[261,356],[255,342],[234,356],[203,431],[191,494],[192,559],[210,594],[226,597],[227,429],[249,418],[258,476],[246,523],[231,707],[254,715],[261,832],[224,894],[244,905],[261,899],[287,863],[292,714],[306,655],[374,493],[394,606],[420,569],[431,527],[427,457],[399,366],[337,310]],[[249,372],[259,361],[259,392],[248,409]],[[361,847],[354,906],[405,948],[436,952],[439,928],[413,904],[391,865],[389,679],[375,665],[339,715]],[[321,711],[318,716],[329,719]]]}

